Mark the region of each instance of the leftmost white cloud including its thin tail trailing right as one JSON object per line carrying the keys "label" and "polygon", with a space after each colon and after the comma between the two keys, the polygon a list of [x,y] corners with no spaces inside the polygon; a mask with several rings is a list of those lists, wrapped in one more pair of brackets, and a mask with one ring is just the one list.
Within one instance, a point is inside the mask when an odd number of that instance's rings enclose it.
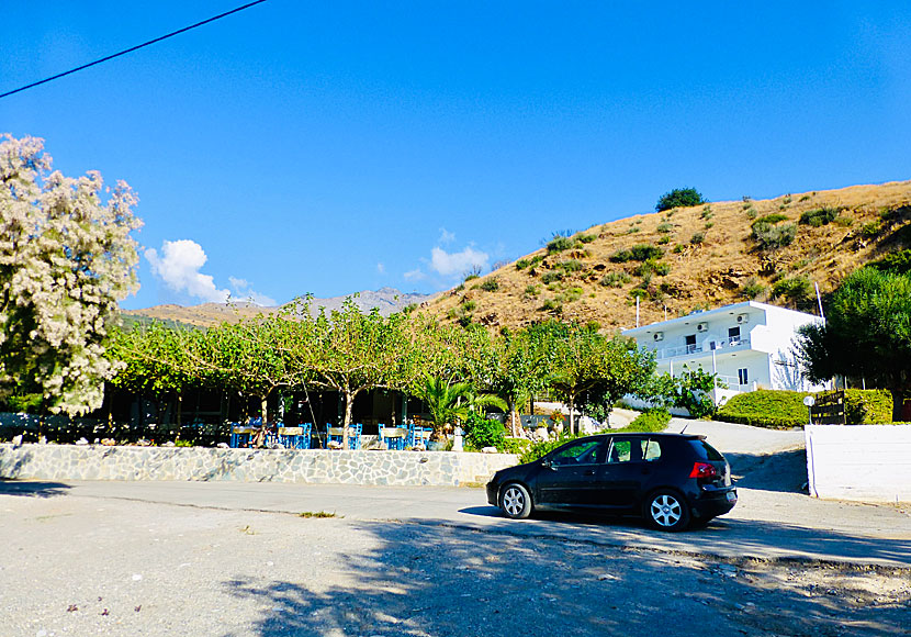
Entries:
{"label": "leftmost white cloud including its thin tail trailing right", "polygon": [[151,272],[176,292],[182,292],[210,303],[225,303],[229,297],[258,305],[274,305],[275,301],[250,287],[246,279],[228,277],[230,290],[220,290],[210,275],[200,270],[209,260],[202,246],[191,239],[161,244],[161,254],[155,248],[145,253]]}

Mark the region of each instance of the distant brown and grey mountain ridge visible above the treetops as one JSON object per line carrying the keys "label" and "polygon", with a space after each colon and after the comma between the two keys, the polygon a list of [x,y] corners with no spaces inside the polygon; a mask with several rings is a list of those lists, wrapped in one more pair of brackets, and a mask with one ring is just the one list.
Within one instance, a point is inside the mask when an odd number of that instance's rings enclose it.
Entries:
{"label": "distant brown and grey mountain ridge visible above the treetops", "polygon": [[[376,308],[383,316],[389,316],[403,310],[408,305],[420,305],[434,299],[435,294],[416,294],[413,292],[401,292],[395,288],[380,288],[379,290],[364,290],[356,294],[331,297],[328,299],[312,299],[311,306],[314,312],[319,308],[326,311],[341,309],[346,299],[351,299],[361,311],[369,312]],[[155,305],[144,310],[124,310],[122,312],[124,323],[132,325],[136,323],[148,323],[149,321],[161,321],[167,324],[185,324],[206,327],[218,323],[235,322],[241,318],[256,316],[258,314],[271,314],[281,310],[281,306],[265,308],[254,303],[202,303],[200,305]]]}

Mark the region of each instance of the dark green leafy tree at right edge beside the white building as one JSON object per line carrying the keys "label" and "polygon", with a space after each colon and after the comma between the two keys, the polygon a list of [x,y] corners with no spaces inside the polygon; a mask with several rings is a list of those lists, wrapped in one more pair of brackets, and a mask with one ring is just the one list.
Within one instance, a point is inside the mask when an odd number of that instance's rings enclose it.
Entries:
{"label": "dark green leafy tree at right edge beside the white building", "polygon": [[848,276],[825,310],[825,323],[799,329],[797,350],[808,378],[863,377],[892,393],[901,421],[911,392],[911,276],[863,268]]}

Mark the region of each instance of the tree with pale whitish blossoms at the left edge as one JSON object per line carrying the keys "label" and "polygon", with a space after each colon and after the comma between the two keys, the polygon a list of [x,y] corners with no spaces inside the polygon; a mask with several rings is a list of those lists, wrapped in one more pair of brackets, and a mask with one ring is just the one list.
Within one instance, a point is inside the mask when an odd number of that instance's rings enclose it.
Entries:
{"label": "tree with pale whitish blossoms at the left edge", "polygon": [[142,222],[125,182],[50,168],[43,139],[0,135],[0,400],[38,394],[75,415],[101,406],[117,370],[104,340],[138,288]]}

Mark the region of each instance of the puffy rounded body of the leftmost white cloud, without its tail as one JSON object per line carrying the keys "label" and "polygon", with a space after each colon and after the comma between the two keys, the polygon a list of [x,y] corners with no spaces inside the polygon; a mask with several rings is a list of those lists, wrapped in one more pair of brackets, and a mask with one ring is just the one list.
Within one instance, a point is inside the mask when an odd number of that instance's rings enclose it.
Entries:
{"label": "puffy rounded body of the leftmost white cloud, without its tail", "polygon": [[151,272],[176,292],[213,303],[224,303],[230,294],[228,290],[216,288],[211,276],[200,272],[209,257],[194,241],[165,242],[160,256],[158,250],[149,248],[145,257],[151,265]]}

